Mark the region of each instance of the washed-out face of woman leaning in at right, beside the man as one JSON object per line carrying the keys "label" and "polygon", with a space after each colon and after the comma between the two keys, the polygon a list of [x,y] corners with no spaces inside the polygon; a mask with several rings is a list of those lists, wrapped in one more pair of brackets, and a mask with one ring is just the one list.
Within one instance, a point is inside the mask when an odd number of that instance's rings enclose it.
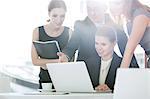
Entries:
{"label": "washed-out face of woman leaning in at right, beside the man", "polygon": [[109,0],[110,12],[114,16],[121,15],[123,13],[124,0]]}

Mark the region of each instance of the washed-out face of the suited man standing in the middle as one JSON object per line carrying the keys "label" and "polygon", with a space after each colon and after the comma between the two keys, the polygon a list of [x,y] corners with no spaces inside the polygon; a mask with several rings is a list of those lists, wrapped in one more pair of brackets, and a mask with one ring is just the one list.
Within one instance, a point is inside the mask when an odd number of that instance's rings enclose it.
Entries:
{"label": "washed-out face of the suited man standing in the middle", "polygon": [[106,11],[106,4],[100,0],[87,0],[88,17],[94,22],[101,21]]}

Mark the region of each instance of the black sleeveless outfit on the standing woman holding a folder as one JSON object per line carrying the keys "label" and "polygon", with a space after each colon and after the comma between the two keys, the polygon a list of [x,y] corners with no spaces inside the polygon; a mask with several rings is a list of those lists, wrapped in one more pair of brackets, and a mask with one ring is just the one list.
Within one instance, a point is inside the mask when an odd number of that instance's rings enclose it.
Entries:
{"label": "black sleeveless outfit on the standing woman holding a folder", "polygon": [[[68,40],[69,40],[69,28],[68,27],[64,27],[64,31],[61,35],[59,35],[58,37],[51,37],[49,35],[47,35],[47,33],[44,30],[44,26],[39,27],[39,41],[52,41],[52,40],[56,40],[59,43],[60,49],[63,50],[64,47],[67,45]],[[44,58],[44,57],[42,57]],[[49,76],[49,73],[47,70],[44,70],[42,68],[40,68],[40,74],[39,74],[40,80],[40,86],[39,88],[42,88],[41,83],[44,82],[52,82],[51,78]]]}

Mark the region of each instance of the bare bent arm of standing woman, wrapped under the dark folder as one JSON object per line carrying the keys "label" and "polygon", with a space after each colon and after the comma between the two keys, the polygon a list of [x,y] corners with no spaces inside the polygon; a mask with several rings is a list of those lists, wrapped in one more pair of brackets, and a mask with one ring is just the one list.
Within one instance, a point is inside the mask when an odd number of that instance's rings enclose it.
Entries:
{"label": "bare bent arm of standing woman, wrapped under the dark folder", "polygon": [[[39,30],[36,28],[33,31],[33,38],[32,41],[39,40]],[[59,59],[42,59],[38,56],[37,51],[32,43],[32,49],[31,49],[31,58],[32,63],[37,66],[41,66],[43,69],[46,69],[46,63],[57,63]]]}

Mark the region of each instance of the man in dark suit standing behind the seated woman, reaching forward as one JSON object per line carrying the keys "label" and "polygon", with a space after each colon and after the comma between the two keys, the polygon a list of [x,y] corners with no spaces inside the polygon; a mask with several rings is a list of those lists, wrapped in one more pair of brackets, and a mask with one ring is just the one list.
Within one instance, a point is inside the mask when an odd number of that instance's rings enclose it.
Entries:
{"label": "man in dark suit standing behind the seated woman, reaching forward", "polygon": [[[118,45],[121,54],[123,55],[127,42],[127,36],[124,31],[114,24],[108,14],[106,14],[107,6],[100,0],[87,0],[87,17],[84,20],[76,21],[74,33],[70,42],[64,49],[64,53],[59,54],[62,62],[70,60],[75,51],[78,50],[77,61],[87,62],[89,57],[95,56],[95,32],[98,26],[104,24],[113,26],[117,31]],[[136,59],[133,58],[131,67],[139,67]]]}

